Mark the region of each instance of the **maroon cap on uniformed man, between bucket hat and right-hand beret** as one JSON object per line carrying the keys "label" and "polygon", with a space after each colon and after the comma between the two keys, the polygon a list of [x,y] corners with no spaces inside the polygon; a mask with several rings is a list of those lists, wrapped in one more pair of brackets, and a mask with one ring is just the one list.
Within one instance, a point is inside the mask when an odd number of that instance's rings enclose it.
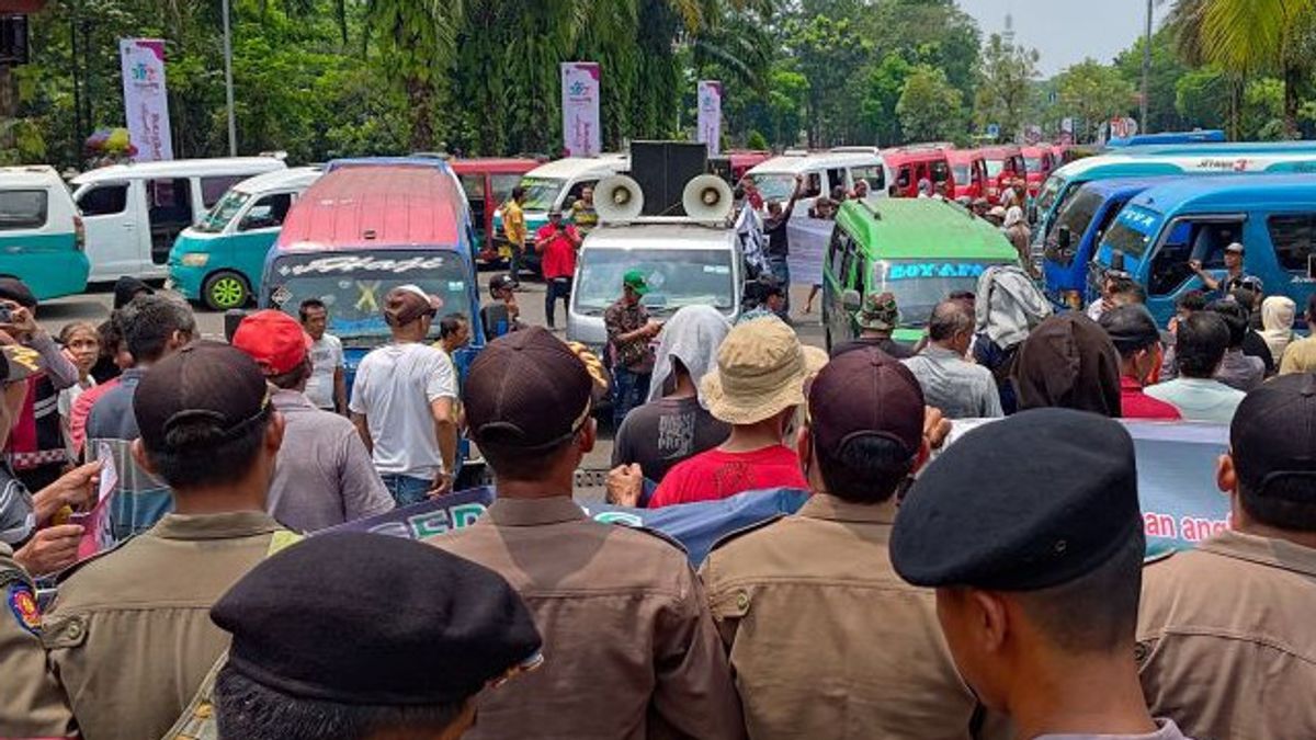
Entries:
{"label": "maroon cap on uniformed man, between bucket hat and right-hand beret", "polygon": [[851,440],[884,437],[909,457],[923,446],[923,388],[908,367],[875,346],[828,362],[809,387],[809,424],[820,448],[838,454]]}

